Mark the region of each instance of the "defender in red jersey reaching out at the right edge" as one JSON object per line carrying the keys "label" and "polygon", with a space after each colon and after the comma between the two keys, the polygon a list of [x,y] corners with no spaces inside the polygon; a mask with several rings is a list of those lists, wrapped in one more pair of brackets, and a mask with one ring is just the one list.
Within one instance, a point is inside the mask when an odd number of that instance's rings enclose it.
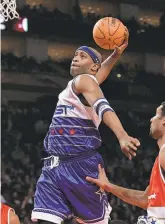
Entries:
{"label": "defender in red jersey reaching out at the right edge", "polygon": [[148,216],[139,217],[139,223],[165,224],[165,102],[157,108],[155,116],[151,119],[150,135],[157,140],[159,154],[145,191],[122,188],[110,183],[104,168],[100,165],[98,179],[86,179],[129,204],[147,209]]}

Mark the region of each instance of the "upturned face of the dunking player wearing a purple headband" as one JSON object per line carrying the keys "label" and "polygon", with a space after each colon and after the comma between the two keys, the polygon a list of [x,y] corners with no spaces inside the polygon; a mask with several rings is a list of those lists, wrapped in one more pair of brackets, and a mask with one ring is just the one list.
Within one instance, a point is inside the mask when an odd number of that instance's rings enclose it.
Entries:
{"label": "upturned face of the dunking player wearing a purple headband", "polygon": [[70,74],[75,77],[81,74],[90,74],[92,67],[95,65],[92,58],[84,51],[75,52],[70,66]]}

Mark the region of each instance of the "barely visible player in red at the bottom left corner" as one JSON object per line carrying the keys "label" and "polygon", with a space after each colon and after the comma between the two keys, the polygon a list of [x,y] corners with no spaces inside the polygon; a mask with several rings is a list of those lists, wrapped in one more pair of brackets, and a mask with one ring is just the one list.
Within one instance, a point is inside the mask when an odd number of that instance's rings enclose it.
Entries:
{"label": "barely visible player in red at the bottom left corner", "polygon": [[1,203],[1,224],[20,224],[13,208]]}

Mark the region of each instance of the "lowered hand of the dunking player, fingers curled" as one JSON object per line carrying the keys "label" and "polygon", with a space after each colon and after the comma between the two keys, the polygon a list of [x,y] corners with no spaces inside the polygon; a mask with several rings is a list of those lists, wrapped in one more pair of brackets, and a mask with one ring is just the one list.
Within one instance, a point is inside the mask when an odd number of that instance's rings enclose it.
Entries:
{"label": "lowered hand of the dunking player, fingers curled", "polygon": [[137,148],[140,146],[140,142],[137,138],[125,135],[119,140],[122,152],[131,160],[136,156]]}

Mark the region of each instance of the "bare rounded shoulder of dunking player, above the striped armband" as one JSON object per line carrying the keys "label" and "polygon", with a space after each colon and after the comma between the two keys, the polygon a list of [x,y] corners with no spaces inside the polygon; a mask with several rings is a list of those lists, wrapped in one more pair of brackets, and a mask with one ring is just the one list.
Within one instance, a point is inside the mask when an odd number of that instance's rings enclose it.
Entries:
{"label": "bare rounded shoulder of dunking player, above the striped armband", "polygon": [[93,91],[98,87],[98,83],[91,75],[83,74],[76,77],[74,80],[74,85],[77,93],[83,93],[86,91]]}

